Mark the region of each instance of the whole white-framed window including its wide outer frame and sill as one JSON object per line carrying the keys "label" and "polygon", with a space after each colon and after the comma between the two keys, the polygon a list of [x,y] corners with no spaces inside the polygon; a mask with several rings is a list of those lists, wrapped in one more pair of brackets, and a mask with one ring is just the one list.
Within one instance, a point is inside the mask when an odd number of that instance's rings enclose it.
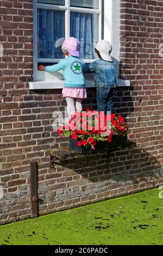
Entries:
{"label": "whole white-framed window including its wide outer frame and sill", "polygon": [[[65,58],[61,45],[70,36],[80,41],[80,57],[87,63],[97,58],[94,46],[99,39],[110,41],[118,64],[119,5],[120,0],[34,0],[34,82],[30,88],[63,87],[62,71],[49,74],[38,71],[37,65]],[[86,76],[89,87],[93,87],[92,77]]]}

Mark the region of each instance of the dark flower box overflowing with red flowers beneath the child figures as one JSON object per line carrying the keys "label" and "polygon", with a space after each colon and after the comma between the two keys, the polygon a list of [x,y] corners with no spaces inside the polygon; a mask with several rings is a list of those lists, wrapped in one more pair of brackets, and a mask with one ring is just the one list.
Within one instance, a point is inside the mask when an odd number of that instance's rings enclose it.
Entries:
{"label": "dark flower box overflowing with red flowers beneath the child figures", "polygon": [[76,112],[69,125],[57,130],[61,137],[70,136],[70,149],[79,154],[99,150],[114,151],[127,140],[129,126],[121,115],[104,115],[104,112]]}

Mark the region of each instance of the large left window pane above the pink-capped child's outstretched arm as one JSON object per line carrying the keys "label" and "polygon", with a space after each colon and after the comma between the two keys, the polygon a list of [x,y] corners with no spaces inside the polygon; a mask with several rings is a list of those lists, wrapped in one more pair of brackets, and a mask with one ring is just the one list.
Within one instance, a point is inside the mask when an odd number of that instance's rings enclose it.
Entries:
{"label": "large left window pane above the pink-capped child's outstretched arm", "polygon": [[38,58],[65,58],[61,44],[65,40],[65,12],[37,9]]}

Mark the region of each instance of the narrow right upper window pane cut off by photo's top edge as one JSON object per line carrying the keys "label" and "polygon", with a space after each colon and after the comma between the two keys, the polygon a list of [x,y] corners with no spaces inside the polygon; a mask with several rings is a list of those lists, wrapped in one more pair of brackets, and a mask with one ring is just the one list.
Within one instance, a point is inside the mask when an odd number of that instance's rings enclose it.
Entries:
{"label": "narrow right upper window pane cut off by photo's top edge", "polygon": [[83,7],[98,9],[98,0],[70,0],[70,5],[74,7]]}

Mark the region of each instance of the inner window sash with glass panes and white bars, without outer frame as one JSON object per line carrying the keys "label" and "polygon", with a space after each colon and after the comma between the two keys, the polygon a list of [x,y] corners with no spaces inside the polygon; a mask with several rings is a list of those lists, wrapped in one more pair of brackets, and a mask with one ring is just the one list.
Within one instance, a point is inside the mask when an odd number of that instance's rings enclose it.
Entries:
{"label": "inner window sash with glass panes and white bars, without outer frame", "polygon": [[37,61],[57,63],[65,58],[61,44],[69,36],[80,41],[82,59],[95,59],[93,45],[102,38],[102,2],[37,0]]}

